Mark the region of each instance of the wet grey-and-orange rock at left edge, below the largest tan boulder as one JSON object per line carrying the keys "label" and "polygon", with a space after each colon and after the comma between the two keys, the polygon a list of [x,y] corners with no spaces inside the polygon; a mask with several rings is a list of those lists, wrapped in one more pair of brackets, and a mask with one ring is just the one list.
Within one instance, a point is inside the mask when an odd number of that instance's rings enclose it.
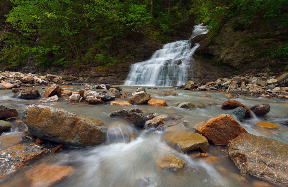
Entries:
{"label": "wet grey-and-orange rock at left edge, below the largest tan boulder", "polygon": [[14,173],[32,160],[43,157],[48,151],[41,145],[17,144],[0,151],[0,179]]}

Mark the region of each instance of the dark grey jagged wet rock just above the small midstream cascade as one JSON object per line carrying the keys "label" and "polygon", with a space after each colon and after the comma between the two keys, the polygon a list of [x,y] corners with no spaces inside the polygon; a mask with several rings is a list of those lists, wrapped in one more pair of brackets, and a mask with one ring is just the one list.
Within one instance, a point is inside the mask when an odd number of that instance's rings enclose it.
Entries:
{"label": "dark grey jagged wet rock just above the small midstream cascade", "polygon": [[145,119],[142,110],[139,108],[122,109],[110,113],[110,117],[121,117],[127,119],[135,126],[143,126]]}

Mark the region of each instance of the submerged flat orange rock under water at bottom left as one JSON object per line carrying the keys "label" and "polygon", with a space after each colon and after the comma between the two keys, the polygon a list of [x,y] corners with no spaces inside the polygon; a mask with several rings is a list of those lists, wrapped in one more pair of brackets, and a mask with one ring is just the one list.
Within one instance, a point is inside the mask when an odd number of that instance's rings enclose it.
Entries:
{"label": "submerged flat orange rock under water at bottom left", "polygon": [[71,166],[58,166],[52,164],[41,164],[31,167],[25,172],[25,180],[34,187],[53,186],[64,178],[70,177],[74,172]]}

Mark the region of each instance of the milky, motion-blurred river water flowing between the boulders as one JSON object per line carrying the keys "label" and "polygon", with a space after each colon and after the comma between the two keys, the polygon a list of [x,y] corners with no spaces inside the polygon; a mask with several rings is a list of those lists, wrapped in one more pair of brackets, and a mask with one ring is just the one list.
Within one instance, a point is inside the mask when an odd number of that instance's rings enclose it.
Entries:
{"label": "milky, motion-blurred river water flowing between the boulders", "polygon": [[[63,87],[63,89],[80,89],[83,86]],[[138,87],[122,86],[125,91],[134,92]],[[162,139],[163,131],[154,128],[141,130],[122,119],[111,119],[111,112],[124,108],[140,108],[144,114],[157,113],[167,114],[170,117],[180,115],[185,123],[179,123],[194,131],[193,127],[200,122],[220,114],[230,114],[232,110],[221,110],[221,104],[231,98],[223,93],[206,91],[175,90],[179,96],[163,96],[162,91],[171,91],[169,87],[158,87],[159,89],[146,89],[153,99],[166,100],[168,106],[158,107],[149,105],[114,106],[109,104],[68,104],[68,100],[47,102],[43,105],[61,108],[74,114],[100,119],[108,126],[105,143],[99,146],[85,148],[65,148],[56,154],[46,156],[29,163],[28,167],[21,169],[12,176],[8,182],[20,181],[25,184],[24,173],[30,167],[42,163],[53,163],[62,166],[73,166],[75,171],[71,177],[62,180],[55,186],[254,186],[260,180],[249,176],[247,181],[240,179],[240,170],[232,163],[227,155],[226,146],[214,146],[210,144],[208,157],[192,158],[189,154],[182,154],[170,148]],[[45,89],[37,88],[39,91]],[[211,95],[210,98],[201,97]],[[30,104],[42,104],[38,100],[22,100],[13,98],[11,90],[0,90],[0,101],[8,108],[16,108],[19,113],[16,121],[12,121],[12,132],[0,136],[1,149],[13,144],[20,143],[21,131],[25,125],[21,123],[23,110]],[[128,98],[116,100],[128,100]],[[288,144],[288,126],[280,123],[287,122],[287,100],[266,99],[262,97],[239,96],[235,100],[247,107],[255,104],[270,104],[270,112],[255,119],[238,121],[249,133],[266,136]],[[207,108],[196,108],[193,110],[177,108],[179,102],[193,102],[198,105],[202,103]],[[235,118],[236,119],[236,118]],[[280,129],[272,129],[279,133],[271,132],[263,127],[255,125],[260,121],[276,123]],[[169,122],[166,122],[169,123]],[[114,132],[121,132],[121,136],[115,136]],[[137,135],[136,140],[128,143],[131,133]],[[119,133],[118,133],[119,134]],[[174,154],[183,159],[187,166],[183,171],[162,171],[157,167],[157,160],[164,154]],[[5,184],[7,184],[5,182]],[[2,184],[2,186],[5,186]],[[14,183],[12,183],[14,184]],[[19,185],[17,183],[17,185]],[[16,185],[16,186],[17,186]]]}

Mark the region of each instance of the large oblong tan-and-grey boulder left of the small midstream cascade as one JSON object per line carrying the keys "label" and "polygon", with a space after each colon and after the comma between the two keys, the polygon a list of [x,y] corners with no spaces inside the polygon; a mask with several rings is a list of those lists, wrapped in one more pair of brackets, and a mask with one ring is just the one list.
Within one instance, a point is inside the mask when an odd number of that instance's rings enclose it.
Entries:
{"label": "large oblong tan-and-grey boulder left of the small midstream cascade", "polygon": [[100,144],[106,133],[100,120],[92,120],[49,106],[28,106],[23,112],[22,121],[34,136],[71,146]]}

